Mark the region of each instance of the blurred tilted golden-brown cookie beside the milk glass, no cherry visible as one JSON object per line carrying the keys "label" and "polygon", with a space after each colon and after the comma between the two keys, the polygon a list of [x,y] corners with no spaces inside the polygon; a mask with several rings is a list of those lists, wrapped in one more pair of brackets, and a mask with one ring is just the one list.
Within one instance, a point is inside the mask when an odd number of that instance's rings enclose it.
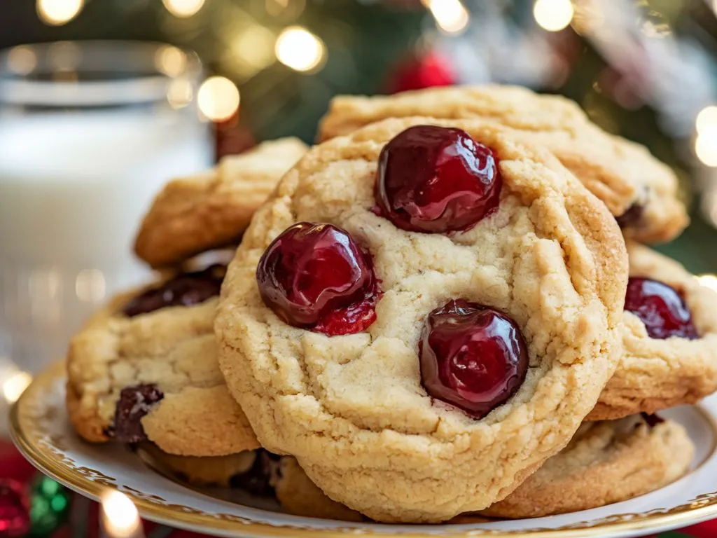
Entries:
{"label": "blurred tilted golden-brown cookie beside the milk glass, no cherry visible", "polygon": [[298,138],[280,138],[170,181],[144,217],[135,252],[159,268],[238,242],[257,207],[306,148]]}

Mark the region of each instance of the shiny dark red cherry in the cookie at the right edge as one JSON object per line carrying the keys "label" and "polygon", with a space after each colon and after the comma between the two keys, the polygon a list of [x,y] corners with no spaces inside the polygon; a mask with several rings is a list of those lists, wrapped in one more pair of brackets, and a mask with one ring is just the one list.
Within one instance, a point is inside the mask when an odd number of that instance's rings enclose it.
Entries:
{"label": "shiny dark red cherry in the cookie at the right edge", "polygon": [[627,280],[625,310],[640,318],[650,338],[697,339],[690,309],[675,288],[650,278]]}

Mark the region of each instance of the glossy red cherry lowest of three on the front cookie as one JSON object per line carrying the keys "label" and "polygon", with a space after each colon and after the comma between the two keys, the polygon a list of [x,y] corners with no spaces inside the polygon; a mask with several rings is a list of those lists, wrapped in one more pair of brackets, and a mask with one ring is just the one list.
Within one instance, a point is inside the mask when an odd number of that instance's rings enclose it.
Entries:
{"label": "glossy red cherry lowest of three on the front cookie", "polygon": [[476,419],[514,395],[528,372],[528,349],[515,321],[463,299],[429,313],[419,354],[429,395]]}

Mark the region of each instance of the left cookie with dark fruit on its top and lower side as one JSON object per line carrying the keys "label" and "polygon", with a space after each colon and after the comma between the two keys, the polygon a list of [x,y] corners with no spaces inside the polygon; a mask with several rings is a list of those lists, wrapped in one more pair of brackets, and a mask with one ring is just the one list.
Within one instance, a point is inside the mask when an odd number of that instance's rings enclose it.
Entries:
{"label": "left cookie with dark fruit on its top and lower side", "polygon": [[217,364],[223,275],[215,266],[117,296],[72,338],[67,408],[83,438],[151,440],[184,456],[257,448]]}

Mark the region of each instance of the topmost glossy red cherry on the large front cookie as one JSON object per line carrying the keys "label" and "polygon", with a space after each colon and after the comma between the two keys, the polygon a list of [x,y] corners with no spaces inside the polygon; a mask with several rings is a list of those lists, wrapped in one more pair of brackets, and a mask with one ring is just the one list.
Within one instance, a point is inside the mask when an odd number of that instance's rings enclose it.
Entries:
{"label": "topmost glossy red cherry on the large front cookie", "polygon": [[460,129],[414,126],[384,146],[377,212],[403,230],[467,230],[498,207],[503,181],[490,148]]}

